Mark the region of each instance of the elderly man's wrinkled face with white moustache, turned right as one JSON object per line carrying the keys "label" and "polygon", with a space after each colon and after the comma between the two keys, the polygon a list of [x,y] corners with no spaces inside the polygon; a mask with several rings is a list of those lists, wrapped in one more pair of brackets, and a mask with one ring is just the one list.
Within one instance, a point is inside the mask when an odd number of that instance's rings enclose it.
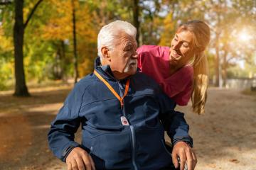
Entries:
{"label": "elderly man's wrinkled face with white moustache, turned right", "polygon": [[109,51],[110,68],[113,74],[128,77],[137,72],[137,42],[127,33],[119,33],[114,41],[113,50]]}

